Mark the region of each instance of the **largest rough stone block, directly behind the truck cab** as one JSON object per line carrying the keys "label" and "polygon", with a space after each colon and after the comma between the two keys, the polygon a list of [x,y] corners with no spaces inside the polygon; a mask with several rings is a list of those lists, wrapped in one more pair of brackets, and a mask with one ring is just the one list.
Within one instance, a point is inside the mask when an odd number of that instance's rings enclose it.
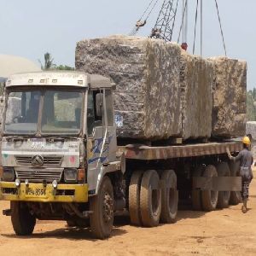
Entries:
{"label": "largest rough stone block, directly behind the truck cab", "polygon": [[117,84],[119,137],[165,139],[181,135],[180,48],[161,40],[114,36],[80,41],[76,68],[108,75]]}

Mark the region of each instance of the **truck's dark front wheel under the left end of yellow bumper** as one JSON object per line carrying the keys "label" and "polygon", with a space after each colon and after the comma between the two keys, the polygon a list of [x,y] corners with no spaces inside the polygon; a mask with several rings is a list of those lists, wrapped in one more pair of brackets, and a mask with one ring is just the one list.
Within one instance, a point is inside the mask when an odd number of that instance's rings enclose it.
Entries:
{"label": "truck's dark front wheel under the left end of yellow bumper", "polygon": [[36,217],[32,215],[26,204],[11,201],[11,221],[17,236],[29,236],[32,234]]}

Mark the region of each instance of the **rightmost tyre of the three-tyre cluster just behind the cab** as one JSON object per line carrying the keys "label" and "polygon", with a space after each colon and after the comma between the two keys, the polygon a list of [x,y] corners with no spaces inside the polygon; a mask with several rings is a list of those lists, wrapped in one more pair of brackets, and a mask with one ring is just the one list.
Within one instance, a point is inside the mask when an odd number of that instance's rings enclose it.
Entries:
{"label": "rightmost tyre of the three-tyre cluster just behind the cab", "polygon": [[164,184],[161,189],[162,209],[160,221],[162,223],[175,223],[177,216],[177,176],[172,170],[165,170],[161,175]]}

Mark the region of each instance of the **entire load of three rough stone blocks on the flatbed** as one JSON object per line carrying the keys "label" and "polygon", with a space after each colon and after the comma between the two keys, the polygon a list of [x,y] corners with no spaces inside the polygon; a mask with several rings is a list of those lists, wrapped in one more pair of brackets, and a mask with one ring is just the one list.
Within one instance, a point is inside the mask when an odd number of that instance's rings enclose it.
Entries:
{"label": "entire load of three rough stone blocks on the flatbed", "polygon": [[109,76],[123,138],[183,140],[245,134],[247,63],[203,59],[177,44],[112,36],[80,41],[76,68]]}

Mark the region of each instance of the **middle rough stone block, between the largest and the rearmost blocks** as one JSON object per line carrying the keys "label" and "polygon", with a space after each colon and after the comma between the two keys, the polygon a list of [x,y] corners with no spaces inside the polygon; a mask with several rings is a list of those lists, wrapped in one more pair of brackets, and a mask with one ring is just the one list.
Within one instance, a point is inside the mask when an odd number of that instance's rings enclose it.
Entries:
{"label": "middle rough stone block, between the largest and the rearmost blocks", "polygon": [[212,63],[185,51],[180,63],[183,139],[211,137]]}

